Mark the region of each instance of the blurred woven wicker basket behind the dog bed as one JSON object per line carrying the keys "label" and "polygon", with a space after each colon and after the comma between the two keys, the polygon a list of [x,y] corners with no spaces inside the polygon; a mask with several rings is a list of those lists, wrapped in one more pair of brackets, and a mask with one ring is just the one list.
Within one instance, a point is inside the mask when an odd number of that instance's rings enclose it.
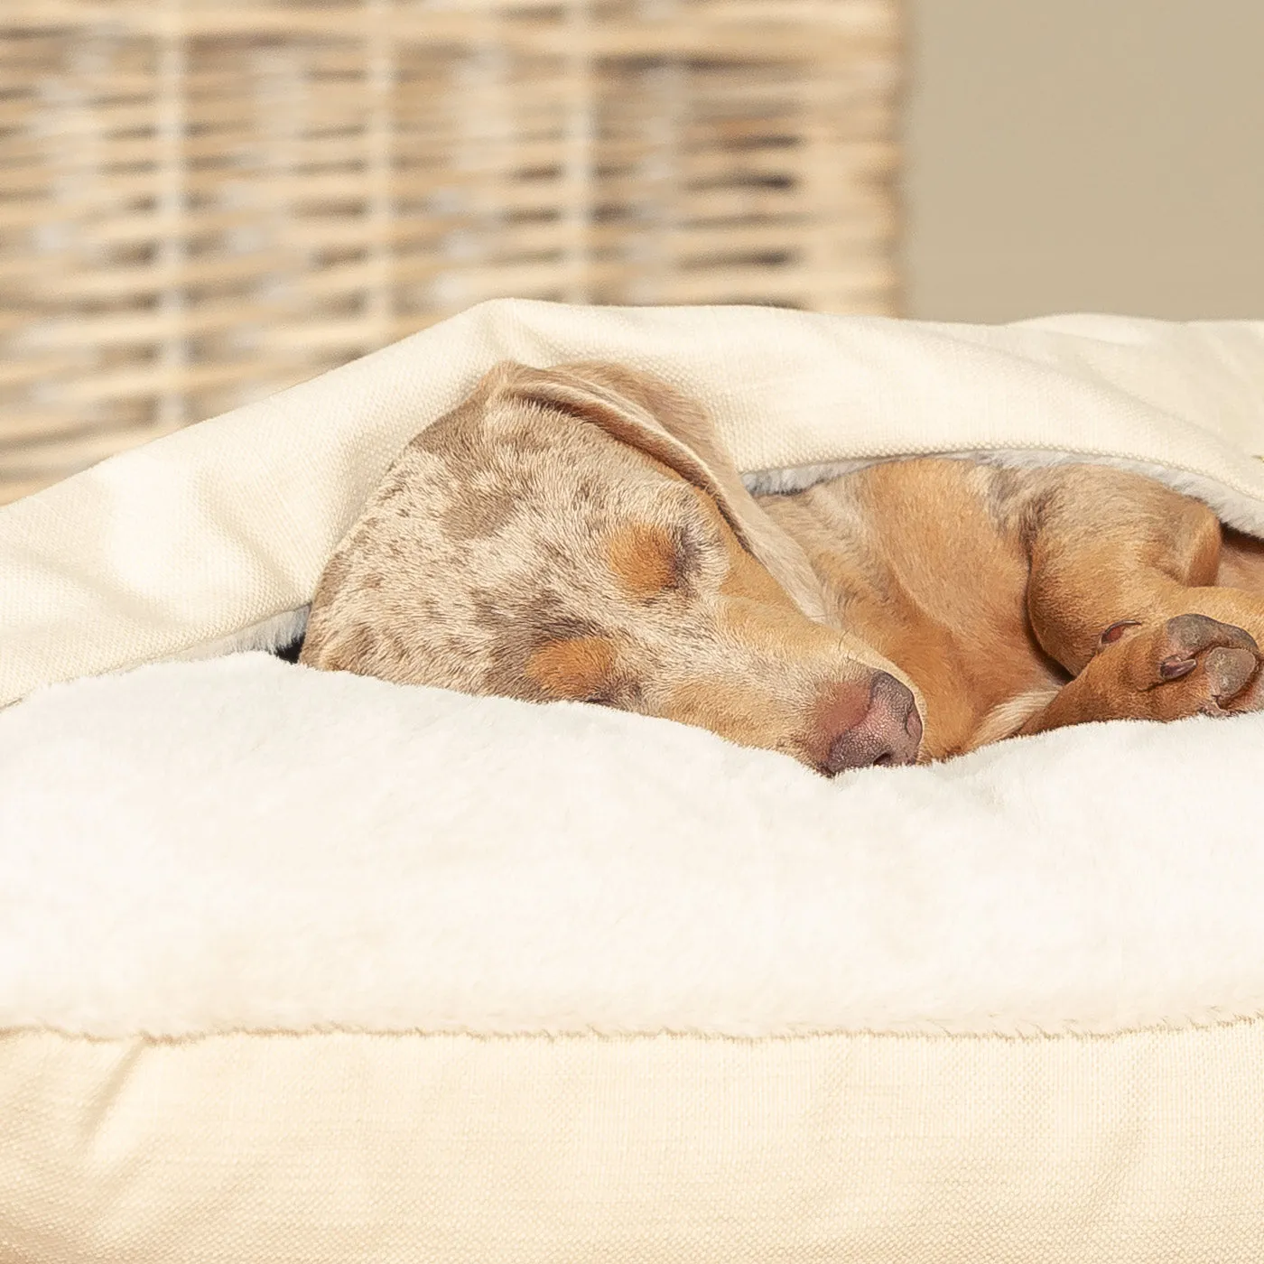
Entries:
{"label": "blurred woven wicker basket behind the dog bed", "polygon": [[0,501],[479,300],[886,312],[895,0],[3,0]]}

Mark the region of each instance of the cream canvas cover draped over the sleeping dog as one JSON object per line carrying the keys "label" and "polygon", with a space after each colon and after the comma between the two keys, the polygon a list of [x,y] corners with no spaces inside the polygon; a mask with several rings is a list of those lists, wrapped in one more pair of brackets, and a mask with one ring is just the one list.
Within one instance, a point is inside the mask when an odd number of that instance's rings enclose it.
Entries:
{"label": "cream canvas cover draped over the sleeping dog", "polygon": [[1264,531],[1264,322],[991,327],[497,301],[0,509],[0,705],[303,605],[398,450],[506,358],[660,373],[710,407],[747,473],[1086,453],[1183,471]]}

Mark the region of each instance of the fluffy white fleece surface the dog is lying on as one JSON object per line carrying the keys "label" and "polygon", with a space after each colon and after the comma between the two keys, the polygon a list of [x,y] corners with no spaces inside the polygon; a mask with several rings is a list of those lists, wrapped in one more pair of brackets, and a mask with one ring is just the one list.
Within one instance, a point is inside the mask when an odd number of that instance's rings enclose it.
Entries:
{"label": "fluffy white fleece surface the dog is lying on", "polygon": [[1264,715],[827,781],[267,655],[0,715],[0,1028],[1096,1033],[1264,1012]]}

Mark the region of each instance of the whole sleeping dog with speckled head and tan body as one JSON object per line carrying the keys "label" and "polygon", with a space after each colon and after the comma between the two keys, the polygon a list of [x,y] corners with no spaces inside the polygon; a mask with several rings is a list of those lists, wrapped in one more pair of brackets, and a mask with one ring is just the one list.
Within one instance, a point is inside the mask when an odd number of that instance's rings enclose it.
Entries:
{"label": "whole sleeping dog with speckled head and tan body", "polygon": [[911,459],[752,495],[666,383],[507,363],[392,466],[300,661],[666,717],[834,775],[1256,710],[1261,633],[1264,545],[1141,475]]}

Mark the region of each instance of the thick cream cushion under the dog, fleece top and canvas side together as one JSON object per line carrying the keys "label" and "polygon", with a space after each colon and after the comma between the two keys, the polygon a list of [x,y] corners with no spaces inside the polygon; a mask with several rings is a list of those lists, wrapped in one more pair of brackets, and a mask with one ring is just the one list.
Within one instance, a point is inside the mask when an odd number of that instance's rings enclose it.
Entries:
{"label": "thick cream cushion under the dog, fleece top and canvas side together", "polygon": [[1264,715],[827,781],[262,653],[44,690],[0,1243],[1256,1259],[1261,763]]}

